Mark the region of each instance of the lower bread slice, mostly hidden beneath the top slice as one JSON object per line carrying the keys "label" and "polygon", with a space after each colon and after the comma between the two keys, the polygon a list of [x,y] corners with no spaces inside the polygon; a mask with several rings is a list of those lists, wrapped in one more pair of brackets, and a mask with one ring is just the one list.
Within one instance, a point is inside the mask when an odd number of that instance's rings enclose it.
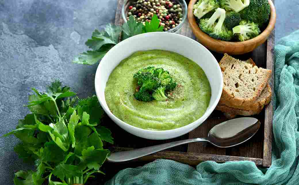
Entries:
{"label": "lower bread slice, mostly hidden beneath the top slice", "polygon": [[224,112],[227,118],[234,118],[236,115],[250,116],[259,114],[265,105],[269,104],[271,101],[271,87],[267,84],[266,88],[263,90],[262,94],[257,98],[257,101],[250,106],[234,106],[229,107],[225,104],[218,104],[216,110]]}

